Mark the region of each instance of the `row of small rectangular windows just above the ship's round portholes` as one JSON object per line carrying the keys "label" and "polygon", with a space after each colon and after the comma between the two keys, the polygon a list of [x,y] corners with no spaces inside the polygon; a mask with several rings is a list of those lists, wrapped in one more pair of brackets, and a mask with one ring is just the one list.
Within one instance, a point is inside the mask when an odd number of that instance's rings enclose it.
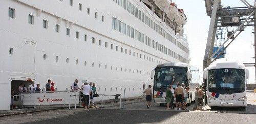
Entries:
{"label": "row of small rectangular windows just above the ship's round portholes", "polygon": [[[11,13],[9,13],[9,16],[13,17],[12,14],[13,14],[13,11],[15,11],[15,10],[12,9],[12,8],[9,8],[9,11],[12,11]],[[48,28],[48,21],[47,20],[43,20],[42,22],[43,22],[43,27],[44,28]],[[33,15],[29,15],[29,23],[33,24]],[[55,24],[55,32],[58,33],[59,29],[60,29],[60,26],[58,24]],[[70,28],[66,28],[66,35],[70,36],[70,33],[71,33]],[[75,32],[75,38],[79,39],[79,32]],[[88,41],[88,36],[86,34],[84,34],[84,41]],[[101,46],[102,41],[101,40],[98,40],[98,41],[99,41],[99,46]],[[92,43],[95,44],[95,38],[94,37],[92,37]],[[148,44],[150,44],[150,43],[148,43]],[[108,42],[105,42],[105,47],[108,48]],[[113,47],[114,47],[114,45],[111,44],[111,49],[113,49]],[[12,51],[12,53],[13,53],[13,49],[12,48],[10,49],[10,51]],[[118,51],[118,46],[116,46],[116,51]],[[123,52],[124,49],[121,47],[120,51]],[[127,49],[125,49],[125,54],[127,54]],[[129,54],[132,55],[132,51],[131,50],[129,51]],[[135,56],[135,52],[133,52],[133,56]],[[141,54],[139,55],[139,53],[137,53],[137,57],[142,58],[142,55]],[[146,59],[146,60],[152,61],[153,63],[163,64],[162,61],[153,59],[153,58],[145,56],[145,55],[143,55],[143,58]]]}

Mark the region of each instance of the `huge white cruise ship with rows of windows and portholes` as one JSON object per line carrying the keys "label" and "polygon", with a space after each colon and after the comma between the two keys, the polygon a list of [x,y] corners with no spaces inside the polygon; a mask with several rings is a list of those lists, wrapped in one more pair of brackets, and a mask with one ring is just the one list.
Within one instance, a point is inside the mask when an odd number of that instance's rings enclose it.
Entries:
{"label": "huge white cruise ship with rows of windows and portholes", "polygon": [[0,110],[31,79],[70,90],[75,79],[98,94],[141,96],[152,70],[189,63],[186,16],[170,0],[2,0]]}

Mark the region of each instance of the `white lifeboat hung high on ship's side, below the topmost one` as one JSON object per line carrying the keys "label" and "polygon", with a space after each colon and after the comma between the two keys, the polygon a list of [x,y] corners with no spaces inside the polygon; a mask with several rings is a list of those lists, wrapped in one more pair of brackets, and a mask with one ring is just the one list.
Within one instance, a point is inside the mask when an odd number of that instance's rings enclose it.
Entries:
{"label": "white lifeboat hung high on ship's side, below the topmost one", "polygon": [[181,16],[175,3],[170,3],[170,5],[164,9],[164,12],[170,20],[176,20]]}

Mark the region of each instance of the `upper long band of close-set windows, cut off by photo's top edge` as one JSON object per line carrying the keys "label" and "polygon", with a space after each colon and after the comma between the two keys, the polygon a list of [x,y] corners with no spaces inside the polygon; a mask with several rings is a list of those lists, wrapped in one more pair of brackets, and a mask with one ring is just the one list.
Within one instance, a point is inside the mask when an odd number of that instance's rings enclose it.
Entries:
{"label": "upper long band of close-set windows, cut off by photo's top edge", "polygon": [[127,0],[113,0],[113,1],[117,3],[119,6],[123,7],[123,9],[127,10],[129,13],[134,15],[136,18],[141,20],[143,23],[145,23],[146,25],[154,29],[158,34],[162,35],[164,38],[174,43],[180,49],[182,49],[183,51],[189,54],[188,48],[182,45],[179,41],[176,41],[176,40],[174,41],[174,38],[170,34],[165,32],[165,30],[161,26],[159,26],[156,22],[154,22],[150,17],[147,17],[137,7],[131,4],[131,2]]}

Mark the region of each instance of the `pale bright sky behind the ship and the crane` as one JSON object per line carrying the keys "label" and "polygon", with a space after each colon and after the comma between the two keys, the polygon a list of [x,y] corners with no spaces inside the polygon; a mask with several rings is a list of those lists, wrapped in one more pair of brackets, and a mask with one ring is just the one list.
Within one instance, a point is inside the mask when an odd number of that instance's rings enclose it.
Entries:
{"label": "pale bright sky behind the ship and the crane", "polygon": [[[247,0],[251,5],[254,5],[254,0]],[[187,23],[185,25],[185,34],[187,35],[190,48],[190,64],[199,68],[200,79],[203,73],[203,58],[205,45],[207,41],[208,28],[210,17],[207,16],[205,4],[203,0],[173,0],[178,8],[184,10]],[[222,0],[223,7],[245,7],[240,0]],[[229,28],[233,29],[233,28]],[[236,28],[234,28],[235,30]],[[254,63],[254,34],[251,33],[252,27],[247,26],[236,40],[234,40],[227,48],[226,58],[237,59],[242,63]],[[248,67],[250,78],[247,83],[255,82],[254,67]],[[201,80],[202,81],[202,80]]]}

